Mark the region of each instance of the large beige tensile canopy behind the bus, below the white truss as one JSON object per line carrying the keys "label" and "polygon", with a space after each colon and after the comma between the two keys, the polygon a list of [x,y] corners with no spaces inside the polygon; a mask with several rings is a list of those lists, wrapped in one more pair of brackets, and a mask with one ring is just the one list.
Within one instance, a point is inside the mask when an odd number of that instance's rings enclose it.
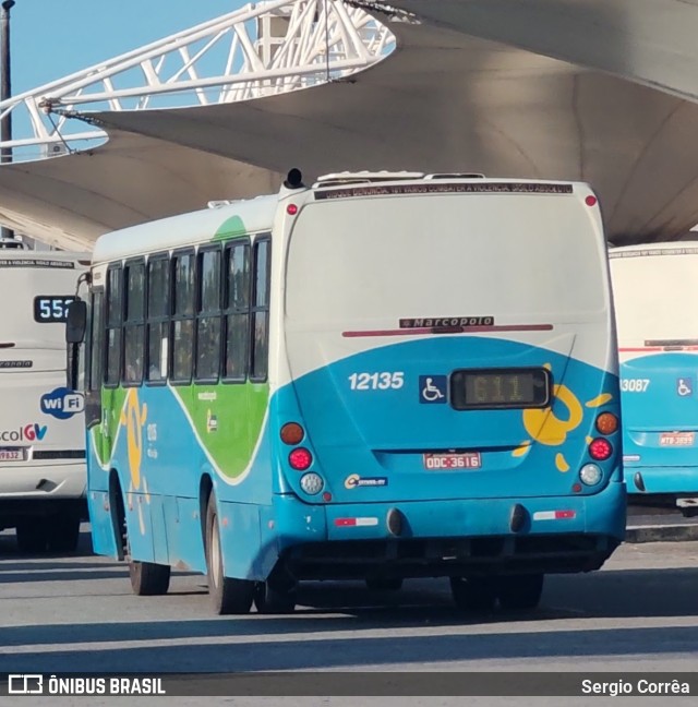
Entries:
{"label": "large beige tensile canopy behind the bus, below the white truss", "polygon": [[[685,14],[696,26],[698,8],[390,4],[421,21],[390,21],[398,49],[349,80],[239,103],[92,113],[109,133],[106,145],[0,166],[0,220],[89,245],[108,230],[210,200],[274,191],[299,167],[309,181],[347,169],[589,181],[616,244],[677,238],[698,223],[698,106],[678,96],[698,95],[698,47],[687,40]],[[651,25],[659,5],[667,14]],[[658,83],[673,95],[650,87]]]}

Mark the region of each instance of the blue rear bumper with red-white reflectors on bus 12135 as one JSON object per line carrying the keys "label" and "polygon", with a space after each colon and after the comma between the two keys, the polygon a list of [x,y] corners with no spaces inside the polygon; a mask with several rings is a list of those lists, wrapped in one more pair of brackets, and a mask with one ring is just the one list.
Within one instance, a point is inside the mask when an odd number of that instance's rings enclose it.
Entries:
{"label": "blue rear bumper with red-white reflectors on bus 12135", "polygon": [[[626,491],[589,496],[338,504],[277,496],[277,541],[297,578],[588,572],[625,534]],[[322,511],[322,512],[320,512]]]}

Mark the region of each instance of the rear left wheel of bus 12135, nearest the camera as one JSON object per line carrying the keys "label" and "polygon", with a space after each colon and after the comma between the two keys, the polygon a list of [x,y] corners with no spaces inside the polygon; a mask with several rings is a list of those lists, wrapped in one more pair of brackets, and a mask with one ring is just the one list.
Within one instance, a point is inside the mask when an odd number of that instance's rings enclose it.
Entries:
{"label": "rear left wheel of bus 12135, nearest the camera", "polygon": [[224,576],[222,552],[216,496],[210,492],[206,508],[206,568],[208,594],[218,614],[244,614],[250,611],[254,598],[254,582]]}

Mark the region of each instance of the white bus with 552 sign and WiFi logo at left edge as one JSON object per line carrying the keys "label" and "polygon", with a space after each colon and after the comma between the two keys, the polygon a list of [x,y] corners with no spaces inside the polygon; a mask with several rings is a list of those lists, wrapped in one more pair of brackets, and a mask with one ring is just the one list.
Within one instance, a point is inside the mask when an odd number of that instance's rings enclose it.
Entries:
{"label": "white bus with 552 sign and WiFi logo at left edge", "polygon": [[65,316],[84,253],[0,244],[0,529],[22,552],[75,549],[86,517],[83,396],[65,387]]}

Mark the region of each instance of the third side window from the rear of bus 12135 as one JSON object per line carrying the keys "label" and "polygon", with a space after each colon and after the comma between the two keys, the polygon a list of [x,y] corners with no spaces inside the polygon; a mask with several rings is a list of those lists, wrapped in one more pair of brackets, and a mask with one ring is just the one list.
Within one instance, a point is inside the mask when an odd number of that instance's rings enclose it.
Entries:
{"label": "third side window from the rear of bus 12135", "polygon": [[197,381],[218,381],[220,374],[220,248],[198,252],[196,313]]}

